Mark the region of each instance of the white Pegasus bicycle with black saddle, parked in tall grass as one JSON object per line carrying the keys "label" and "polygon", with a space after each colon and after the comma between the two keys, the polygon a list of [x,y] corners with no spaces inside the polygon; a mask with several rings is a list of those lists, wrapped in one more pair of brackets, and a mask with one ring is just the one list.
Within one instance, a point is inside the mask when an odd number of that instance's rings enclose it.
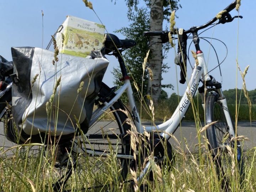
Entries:
{"label": "white Pegasus bicycle with black saddle, parked in tall grass", "polygon": [[[231,17],[231,15],[229,14],[229,12],[233,10],[235,6],[236,0],[224,9],[226,12],[222,14],[221,18],[219,19],[219,23],[224,24],[226,22],[231,22],[234,18],[237,17]],[[228,169],[229,166],[231,166],[229,165],[231,164],[231,162],[225,161],[225,159],[227,158],[225,156],[227,154],[226,146],[228,145],[231,148],[237,150],[235,152],[237,161],[236,166],[239,170],[239,180],[241,183],[244,177],[241,145],[239,141],[231,140],[231,138],[235,137],[237,133],[228,112],[226,98],[223,95],[221,84],[219,82],[216,82],[215,79],[209,75],[203,52],[199,47],[198,31],[212,25],[217,20],[218,19],[214,17],[206,24],[198,27],[192,27],[186,31],[179,30],[171,33],[169,31],[149,31],[144,33],[144,36],[147,37],[159,36],[159,39],[161,41],[158,43],[168,42],[169,33],[172,35],[180,34],[180,37],[185,37],[185,35],[187,35],[188,33],[192,33],[193,43],[196,48],[196,55],[198,59],[198,63],[195,63],[194,65],[188,87],[186,88],[186,91],[172,117],[158,126],[145,127],[145,131],[148,133],[152,133],[153,135],[155,132],[158,132],[158,134],[155,135],[154,139],[150,140],[149,142],[149,145],[153,147],[154,161],[159,164],[165,161],[166,158],[169,159],[169,161],[172,161],[172,148],[167,140],[171,137],[170,134],[173,134],[178,128],[180,122],[182,121],[182,118],[185,116],[185,113],[187,112],[188,107],[191,104],[190,97],[194,97],[198,89],[199,94],[203,98],[202,100],[205,101],[202,105],[205,111],[206,124],[217,121],[217,123],[212,124],[206,130],[207,138],[209,140],[209,150],[211,151],[217,174],[219,175],[219,177],[225,178],[225,171],[226,169]],[[214,25],[217,25],[219,23],[215,23]],[[71,177],[71,175],[75,175],[76,177],[78,176],[77,174],[80,173],[86,176],[84,180],[80,179],[81,190],[90,190],[96,189],[97,187],[101,188],[107,186],[106,183],[104,184],[104,182],[102,183],[101,181],[97,181],[97,179],[100,180],[100,178],[98,177],[100,177],[100,174],[102,174],[101,172],[106,171],[106,165],[104,162],[105,160],[103,158],[111,155],[113,151],[115,151],[114,157],[116,158],[118,167],[121,170],[119,179],[121,181],[125,181],[125,178],[129,171],[129,167],[134,166],[134,164],[131,165],[131,162],[134,162],[135,158],[139,158],[140,153],[138,153],[137,155],[132,154],[130,137],[129,135],[127,135],[127,132],[131,130],[131,126],[130,124],[126,123],[126,119],[128,118],[128,114],[126,114],[125,112],[126,107],[119,99],[126,91],[129,105],[132,109],[131,116],[133,122],[137,129],[137,132],[143,134],[144,129],[141,125],[139,112],[135,104],[135,99],[130,84],[130,78],[127,75],[126,66],[122,57],[122,52],[125,49],[131,48],[135,45],[136,43],[133,40],[120,40],[117,36],[113,34],[107,34],[107,39],[105,42],[105,54],[112,53],[112,55],[114,55],[118,59],[122,71],[122,80],[124,81],[124,84],[118,90],[116,90],[115,87],[110,88],[102,82],[100,91],[95,101],[95,105],[97,106],[97,108],[92,113],[92,118],[89,126],[90,128],[88,132],[85,135],[76,137],[73,141],[66,143],[64,148],[62,148],[61,144],[59,144],[60,153],[62,154],[62,156],[60,157],[58,164],[54,165],[55,172],[58,173],[52,175],[52,178],[50,180],[53,182],[52,187],[54,190],[59,191],[66,189],[63,186],[66,184],[66,182],[68,182],[69,177]],[[181,78],[185,77],[185,70],[185,66],[181,66]],[[200,81],[203,83],[203,85],[201,87],[198,87]],[[8,86],[0,93],[1,119],[4,119],[4,116],[9,111],[8,107],[6,107],[6,102],[11,105],[12,82],[9,78],[7,78],[6,82]],[[110,112],[114,115],[114,117],[111,116],[110,118],[114,118],[115,125],[111,124],[111,122],[107,122],[107,124],[105,125],[97,126],[97,124],[102,123],[102,116],[108,116],[110,115]],[[116,128],[113,128],[114,126],[116,126]],[[95,127],[97,128],[95,129]],[[1,135],[5,136],[4,134]],[[223,142],[224,138],[227,139]],[[162,142],[166,143],[167,145],[167,157],[165,156],[166,153]],[[32,158],[37,158],[39,155],[47,156],[48,154],[48,146],[46,147],[43,144],[39,146],[24,147],[28,147],[25,148],[25,152],[29,154],[29,158],[26,157],[27,161],[31,160]],[[32,152],[28,152],[28,149]],[[2,153],[2,155],[3,154],[4,153]],[[5,155],[5,158],[8,158],[8,155]],[[90,157],[91,159],[89,159],[88,157]],[[101,159],[93,160],[94,157],[101,157]],[[223,165],[224,162],[228,164]],[[137,180],[140,181],[142,177],[150,172],[150,169],[150,162],[146,162],[145,168],[141,171],[141,174],[138,176]],[[75,171],[77,171],[76,174],[74,173]],[[86,179],[94,180],[93,182],[95,182],[95,186],[90,186],[89,184],[87,184]],[[228,180],[224,179],[222,186],[223,188],[228,190]]]}

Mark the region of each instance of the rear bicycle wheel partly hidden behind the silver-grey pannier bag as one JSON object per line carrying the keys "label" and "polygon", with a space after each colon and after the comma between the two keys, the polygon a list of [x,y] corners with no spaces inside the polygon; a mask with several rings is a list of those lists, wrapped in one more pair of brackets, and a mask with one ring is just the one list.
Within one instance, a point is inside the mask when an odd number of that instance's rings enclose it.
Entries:
{"label": "rear bicycle wheel partly hidden behind the silver-grey pannier bag", "polygon": [[[72,150],[72,141],[56,145],[17,145],[10,142],[6,139],[6,134],[17,133],[6,127],[7,121],[10,121],[10,116],[6,115],[10,112],[6,107],[7,103],[11,104],[11,87],[5,93],[0,93],[0,162],[4,165],[0,169],[1,190],[31,190],[30,186],[34,185],[37,189],[53,188],[55,191],[100,191],[102,188],[119,185],[126,178],[129,162],[116,157],[117,154],[130,154],[129,140],[122,138],[130,127],[125,123],[126,114],[120,111],[124,110],[121,101],[114,103],[92,124],[86,133],[91,137],[77,140],[82,150],[107,153],[105,157],[75,152]],[[111,180],[113,183],[109,184],[107,181]]]}

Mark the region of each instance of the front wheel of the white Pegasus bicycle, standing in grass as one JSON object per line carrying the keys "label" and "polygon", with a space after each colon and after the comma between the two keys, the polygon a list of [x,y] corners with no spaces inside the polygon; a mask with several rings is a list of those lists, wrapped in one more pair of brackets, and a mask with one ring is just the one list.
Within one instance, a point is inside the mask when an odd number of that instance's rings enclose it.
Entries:
{"label": "front wheel of the white Pegasus bicycle, standing in grass", "polygon": [[[232,159],[228,154],[228,151],[225,145],[229,145],[230,148],[235,148],[234,140],[230,142],[231,136],[229,134],[229,126],[226,121],[226,117],[223,111],[222,104],[219,102],[219,95],[213,94],[209,95],[206,98],[205,105],[205,117],[207,124],[217,121],[217,123],[213,124],[206,130],[207,139],[210,143],[208,145],[209,150],[212,153],[213,160],[215,162],[216,172],[220,179],[222,179],[222,188],[225,191],[229,191],[230,180],[232,177],[231,169],[232,169]],[[235,126],[233,124],[234,132]],[[235,135],[232,135],[234,137]],[[226,140],[225,140],[226,139]],[[240,184],[244,179],[244,171],[243,171],[243,158],[242,158],[242,150],[239,141],[236,141],[236,149],[235,153],[237,162],[235,165],[236,170],[238,170],[238,180]],[[234,153],[234,151],[233,151]],[[234,167],[233,167],[234,169]]]}

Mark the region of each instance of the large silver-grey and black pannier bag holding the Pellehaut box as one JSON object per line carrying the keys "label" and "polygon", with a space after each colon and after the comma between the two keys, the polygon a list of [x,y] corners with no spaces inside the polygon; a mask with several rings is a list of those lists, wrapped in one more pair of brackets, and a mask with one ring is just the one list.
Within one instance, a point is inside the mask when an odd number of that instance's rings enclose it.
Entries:
{"label": "large silver-grey and black pannier bag holding the Pellehaut box", "polygon": [[[103,54],[95,59],[62,54],[53,65],[54,52],[49,50],[19,47],[11,51],[14,63],[11,129],[19,135],[19,143],[28,138],[36,143],[44,138],[47,141],[48,136],[69,140],[80,132],[75,117],[86,133],[109,63]],[[79,92],[82,81],[84,85]]]}

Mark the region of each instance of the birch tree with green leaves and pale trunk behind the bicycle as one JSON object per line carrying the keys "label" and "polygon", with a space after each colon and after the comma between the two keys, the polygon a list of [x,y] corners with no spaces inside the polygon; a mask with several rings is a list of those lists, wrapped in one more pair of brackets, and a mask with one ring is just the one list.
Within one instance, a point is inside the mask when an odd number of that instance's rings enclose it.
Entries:
{"label": "birch tree with green leaves and pale trunk behind the bicycle", "polygon": [[[132,21],[132,24],[129,27],[123,27],[117,32],[121,32],[127,38],[133,38],[134,40],[137,39],[137,46],[136,48],[126,50],[126,54],[130,57],[126,59],[128,67],[133,69],[132,71],[142,71],[142,62],[145,57],[145,54],[148,51],[145,45],[149,45],[154,42],[158,42],[157,38],[159,37],[152,37],[152,38],[142,38],[142,30],[145,31],[162,31],[163,30],[163,21],[169,21],[171,10],[177,10],[179,0],[126,0],[128,6],[128,19]],[[142,16],[143,14],[147,14],[147,16]],[[141,28],[138,28],[141,26]],[[148,28],[147,28],[148,27]],[[132,33],[129,33],[132,32]],[[134,32],[134,33],[133,33]],[[140,51],[138,50],[140,49]],[[134,51],[134,49],[137,49]],[[156,43],[150,46],[150,55],[148,57],[147,67],[150,68],[153,72],[153,79],[152,81],[148,78],[148,73],[145,73],[147,76],[144,78],[145,91],[144,94],[152,95],[152,99],[154,103],[158,102],[162,87],[169,87],[172,88],[171,84],[162,85],[162,72],[166,72],[168,67],[166,64],[163,63],[163,59],[165,55],[162,53],[162,49],[165,50],[167,53],[170,49],[170,46],[166,44]],[[134,62],[134,59],[140,58],[142,62],[137,63]],[[138,70],[134,70],[137,68]],[[117,69],[114,69],[114,75],[117,75]],[[148,71],[147,71],[148,72]],[[142,73],[141,73],[142,74]],[[140,79],[142,77],[141,74],[135,74],[134,77],[138,77],[135,79],[138,86],[140,86]],[[117,81],[115,81],[117,82]],[[141,87],[139,87],[141,89]],[[144,88],[143,88],[144,89]]]}

